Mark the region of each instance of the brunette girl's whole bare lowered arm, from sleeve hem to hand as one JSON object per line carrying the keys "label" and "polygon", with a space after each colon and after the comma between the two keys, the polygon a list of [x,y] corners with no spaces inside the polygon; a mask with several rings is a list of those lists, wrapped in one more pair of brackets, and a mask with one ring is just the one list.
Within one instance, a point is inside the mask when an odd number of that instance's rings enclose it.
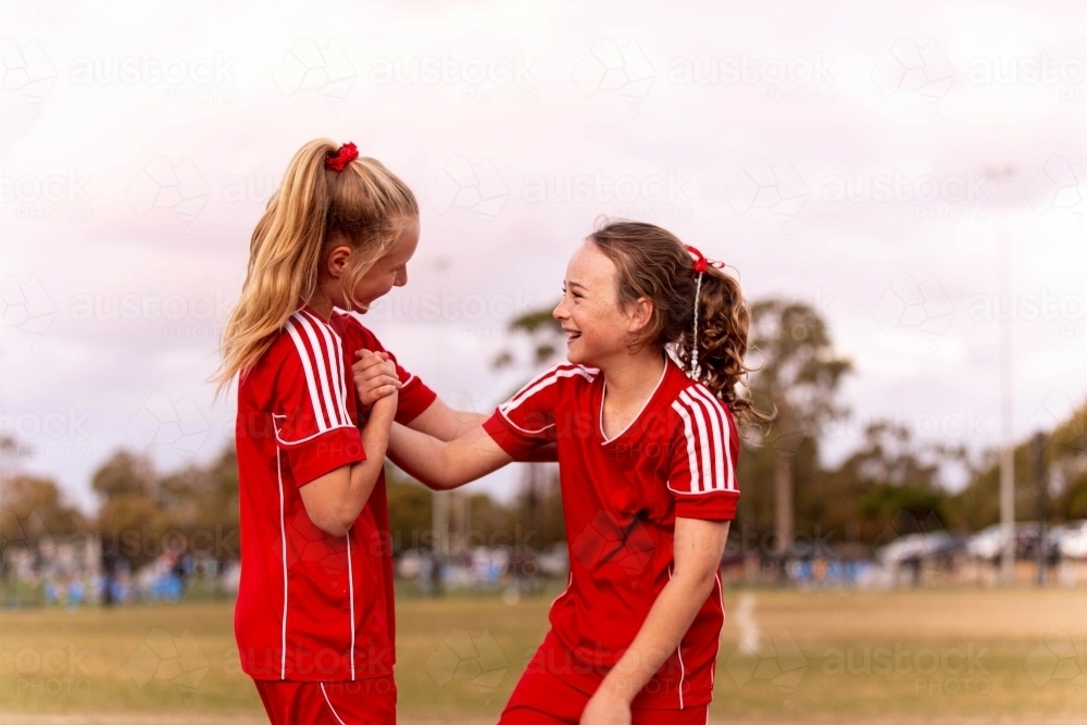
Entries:
{"label": "brunette girl's whole bare lowered arm, from sleeve hem to hand", "polygon": [[630,722],[630,702],[679,646],[721,566],[729,522],[676,518],[675,567],[641,629],[582,713],[582,725]]}

